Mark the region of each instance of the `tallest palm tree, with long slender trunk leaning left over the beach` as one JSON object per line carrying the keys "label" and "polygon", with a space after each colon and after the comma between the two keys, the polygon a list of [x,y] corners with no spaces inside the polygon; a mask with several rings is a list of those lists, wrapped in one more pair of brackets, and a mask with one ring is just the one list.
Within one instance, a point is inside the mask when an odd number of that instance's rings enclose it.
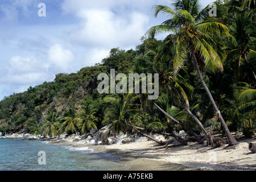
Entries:
{"label": "tallest palm tree, with long slender trunk leaning left over the beach", "polygon": [[[186,7],[186,9],[177,9],[176,12],[168,6],[154,6],[155,16],[162,12],[171,15],[171,19],[164,21],[158,26],[151,27],[146,34],[149,34],[150,36],[155,36],[160,32],[170,32],[175,34],[174,39],[166,45],[166,47],[174,47],[175,50],[175,55],[171,62],[174,74],[177,75],[177,72],[183,67],[185,60],[190,57],[197,75],[200,78],[200,82],[203,85],[205,92],[207,92],[209,100],[224,128],[229,146],[233,146],[234,144],[237,144],[237,141],[231,135],[228,126],[226,126],[221,112],[213,100],[212,94],[205,84],[202,75],[203,69],[212,73],[223,70],[221,61],[221,56],[223,55],[220,53],[218,47],[219,39],[216,37],[229,37],[230,34],[228,28],[224,24],[218,22],[202,22],[201,20],[205,17],[205,10],[196,12],[196,9],[198,10],[198,3],[196,2],[198,1],[183,0],[182,2],[187,2],[189,7]],[[163,52],[169,50],[170,49],[165,49]]]}

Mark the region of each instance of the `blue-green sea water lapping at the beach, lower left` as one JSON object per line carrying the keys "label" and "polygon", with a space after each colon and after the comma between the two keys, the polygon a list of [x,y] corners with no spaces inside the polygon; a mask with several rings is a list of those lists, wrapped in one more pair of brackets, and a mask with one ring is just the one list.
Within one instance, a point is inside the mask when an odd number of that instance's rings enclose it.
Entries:
{"label": "blue-green sea water lapping at the beach, lower left", "polygon": [[[39,151],[45,152],[38,155]],[[41,160],[42,159],[42,160]],[[0,171],[105,171],[125,170],[121,157],[39,140],[0,139]],[[46,164],[42,164],[42,162]],[[41,162],[41,164],[39,164]]]}

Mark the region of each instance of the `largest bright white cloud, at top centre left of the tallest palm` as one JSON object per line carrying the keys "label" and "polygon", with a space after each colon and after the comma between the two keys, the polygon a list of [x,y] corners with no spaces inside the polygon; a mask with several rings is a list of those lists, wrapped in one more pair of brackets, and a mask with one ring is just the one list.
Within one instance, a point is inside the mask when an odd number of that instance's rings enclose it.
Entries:
{"label": "largest bright white cloud, at top centre left of the tallest palm", "polygon": [[149,22],[146,15],[133,12],[126,17],[115,16],[109,10],[82,10],[77,16],[80,27],[71,33],[70,40],[87,47],[131,47],[139,42]]}

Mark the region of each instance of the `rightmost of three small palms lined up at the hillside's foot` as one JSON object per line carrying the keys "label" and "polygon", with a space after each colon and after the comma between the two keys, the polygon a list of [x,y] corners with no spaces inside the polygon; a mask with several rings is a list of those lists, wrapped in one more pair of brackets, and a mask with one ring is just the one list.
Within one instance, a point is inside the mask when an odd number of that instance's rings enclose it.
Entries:
{"label": "rightmost of three small palms lined up at the hillside's foot", "polygon": [[79,122],[80,122],[82,134],[85,132],[85,129],[93,129],[93,128],[97,129],[95,122],[98,120],[98,118],[94,116],[96,114],[96,110],[91,108],[92,106],[85,105],[82,107],[83,110],[81,110],[79,113],[81,117]]}

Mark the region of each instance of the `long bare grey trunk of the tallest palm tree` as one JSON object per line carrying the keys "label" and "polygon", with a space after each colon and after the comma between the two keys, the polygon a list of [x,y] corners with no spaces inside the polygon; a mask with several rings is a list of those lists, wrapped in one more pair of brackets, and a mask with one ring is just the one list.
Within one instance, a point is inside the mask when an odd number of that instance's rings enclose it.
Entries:
{"label": "long bare grey trunk of the tallest palm tree", "polygon": [[201,74],[199,65],[197,64],[195,51],[193,50],[193,48],[191,46],[189,46],[189,49],[190,49],[190,52],[191,52],[193,64],[196,68],[197,75],[199,76],[200,82],[203,85],[203,88],[205,89],[205,92],[207,93],[207,96],[209,97],[209,100],[212,103],[213,108],[214,108],[216,114],[218,115],[218,118],[220,119],[221,125],[222,125],[222,127],[225,131],[226,137],[228,138],[229,146],[233,146],[234,144],[237,144],[237,140],[230,133],[230,131],[228,129],[228,126],[226,126],[226,123],[225,123],[224,119],[222,118],[221,112],[220,112],[220,110],[218,110],[218,107],[217,107],[215,101],[213,100],[212,94],[210,93],[207,85],[204,82],[203,75]]}

